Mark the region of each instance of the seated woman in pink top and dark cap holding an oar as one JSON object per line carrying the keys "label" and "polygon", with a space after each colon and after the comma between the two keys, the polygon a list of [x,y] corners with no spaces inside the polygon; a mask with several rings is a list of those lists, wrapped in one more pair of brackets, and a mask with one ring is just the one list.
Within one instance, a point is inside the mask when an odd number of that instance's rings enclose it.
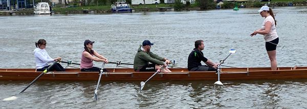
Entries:
{"label": "seated woman in pink top and dark cap holding an oar", "polygon": [[[95,41],[91,41],[89,39],[84,41],[84,51],[81,55],[81,64],[80,70],[82,72],[99,72],[100,68],[94,67],[94,61],[103,61],[108,63],[107,58],[103,57],[102,55],[98,54],[96,51],[93,50],[93,43]],[[96,57],[94,57],[94,55]]]}

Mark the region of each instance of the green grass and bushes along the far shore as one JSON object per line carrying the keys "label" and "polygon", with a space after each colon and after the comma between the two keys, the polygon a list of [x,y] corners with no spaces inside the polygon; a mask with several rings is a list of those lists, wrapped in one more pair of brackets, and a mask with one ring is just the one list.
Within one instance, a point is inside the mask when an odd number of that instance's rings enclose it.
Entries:
{"label": "green grass and bushes along the far shore", "polygon": [[[83,13],[83,10],[92,10],[94,13],[112,13],[111,11],[111,3],[114,3],[116,0],[88,0],[90,3],[69,3],[68,6],[64,6],[64,4],[56,4],[56,7],[52,8],[52,11],[55,14],[78,14]],[[131,4],[131,0],[127,1]],[[77,4],[78,3],[78,4]],[[235,7],[235,4],[243,4],[245,7],[261,7],[268,2],[223,2],[224,4],[221,8],[224,9],[232,9]],[[289,3],[292,3],[293,6],[306,6],[307,0],[272,0],[270,1],[271,6],[288,6]],[[80,5],[80,6],[79,6]],[[173,7],[176,11],[181,10],[210,10],[216,8],[216,2],[213,0],[196,0],[195,4],[182,4],[180,0],[176,0],[174,4],[164,4],[164,0],[161,1],[161,4],[155,5],[133,5],[131,8],[134,9],[135,12],[146,12],[146,11],[158,11],[158,8],[162,7]],[[33,13],[33,9],[22,9],[15,11],[16,15],[31,15]],[[0,15],[10,15],[10,12],[0,12]]]}

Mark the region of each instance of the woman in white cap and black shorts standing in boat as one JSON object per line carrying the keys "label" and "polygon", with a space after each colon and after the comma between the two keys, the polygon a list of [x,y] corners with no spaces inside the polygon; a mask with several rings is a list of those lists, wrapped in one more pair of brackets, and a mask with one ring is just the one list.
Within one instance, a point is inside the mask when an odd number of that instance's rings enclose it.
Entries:
{"label": "woman in white cap and black shorts standing in boat", "polygon": [[273,11],[268,6],[262,6],[260,10],[260,15],[265,17],[264,22],[260,29],[254,31],[250,36],[256,34],[264,35],[266,40],[266,49],[271,60],[271,70],[277,70],[276,62],[276,47],[279,41],[277,32],[276,32],[276,20],[273,14]]}

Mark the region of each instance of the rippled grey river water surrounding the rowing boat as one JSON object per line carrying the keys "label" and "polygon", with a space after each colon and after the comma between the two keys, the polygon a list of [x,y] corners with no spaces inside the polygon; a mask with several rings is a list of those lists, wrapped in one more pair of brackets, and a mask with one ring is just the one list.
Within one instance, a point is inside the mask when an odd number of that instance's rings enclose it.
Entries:
{"label": "rippled grey river water surrounding the rowing boat", "polygon": [[[225,64],[270,67],[261,35],[250,37],[264,20],[258,9],[77,14],[0,17],[0,68],[34,68],[34,43],[47,40],[51,57],[79,63],[85,39],[109,61],[133,63],[145,39],[151,51],[186,67],[195,40],[205,41],[205,57],[218,62],[236,49]],[[307,7],[275,7],[279,67],[307,66]],[[101,63],[95,62],[95,66]],[[114,64],[107,64],[114,68]],[[131,66],[127,66],[131,67]],[[98,79],[98,78],[97,78]],[[15,94],[31,81],[0,81],[0,99]],[[307,79],[223,81],[37,81],[0,108],[307,108]]]}

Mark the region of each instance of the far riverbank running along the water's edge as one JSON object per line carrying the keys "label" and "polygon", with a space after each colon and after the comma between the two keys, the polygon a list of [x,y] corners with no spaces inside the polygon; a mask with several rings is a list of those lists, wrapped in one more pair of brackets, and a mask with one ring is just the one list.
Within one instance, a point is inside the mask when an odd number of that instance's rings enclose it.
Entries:
{"label": "far riverbank running along the water's edge", "polygon": [[[307,1],[278,1],[278,2],[270,2],[270,6],[278,7],[278,6],[289,6],[289,3],[293,6],[307,6]],[[243,4],[245,7],[261,7],[268,2],[242,2],[239,4]],[[150,11],[161,11],[164,7],[174,8],[176,4],[152,4],[152,5],[137,5],[131,6],[134,12],[150,12]],[[235,2],[224,2],[221,8],[224,9],[232,9],[235,7]],[[181,9],[174,10],[210,10],[215,9],[216,3],[211,3],[207,7],[200,7],[198,3],[191,4],[189,6],[182,5]],[[101,5],[101,6],[81,6],[81,7],[55,7],[52,8],[54,14],[81,14],[81,13],[112,13],[109,5]],[[85,11],[84,11],[85,10]],[[0,11],[0,16],[9,16],[9,15],[32,15],[34,14],[33,9],[23,9],[16,11]]]}

